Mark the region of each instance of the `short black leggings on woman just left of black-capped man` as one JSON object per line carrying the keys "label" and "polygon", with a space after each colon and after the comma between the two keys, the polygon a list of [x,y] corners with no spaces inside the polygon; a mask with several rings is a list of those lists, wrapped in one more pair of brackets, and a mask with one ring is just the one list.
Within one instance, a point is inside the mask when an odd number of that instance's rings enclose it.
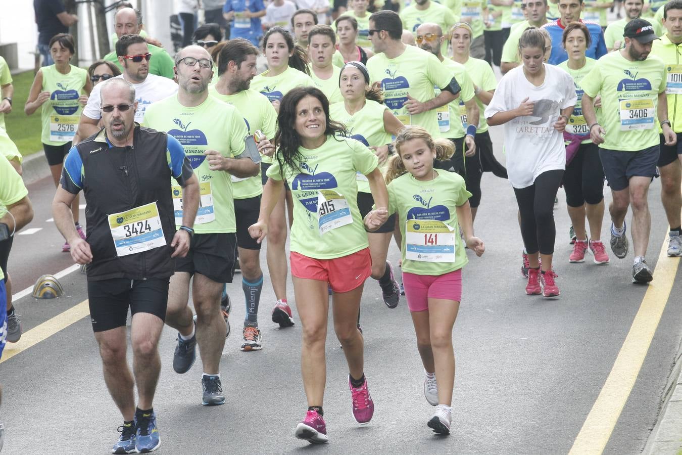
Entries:
{"label": "short black leggings on woman just left of black-capped man", "polygon": [[598,204],[604,199],[604,168],[596,144],[580,144],[563,173],[563,189],[569,207]]}

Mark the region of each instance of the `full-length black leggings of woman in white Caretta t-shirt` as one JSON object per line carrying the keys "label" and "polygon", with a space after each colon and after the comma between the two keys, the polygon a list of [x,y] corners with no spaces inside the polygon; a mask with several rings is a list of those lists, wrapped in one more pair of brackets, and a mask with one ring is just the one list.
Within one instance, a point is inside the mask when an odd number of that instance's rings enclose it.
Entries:
{"label": "full-length black leggings of woman in white Caretta t-shirt", "polygon": [[552,254],[554,237],[554,198],[561,184],[563,170],[554,169],[537,176],[533,185],[514,188],[521,214],[521,237],[529,254]]}

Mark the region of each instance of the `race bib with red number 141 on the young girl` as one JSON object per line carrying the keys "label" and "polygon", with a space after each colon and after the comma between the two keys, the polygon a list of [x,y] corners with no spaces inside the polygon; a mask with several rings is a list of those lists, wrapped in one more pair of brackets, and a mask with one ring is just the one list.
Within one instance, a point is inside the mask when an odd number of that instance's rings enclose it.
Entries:
{"label": "race bib with red number 141 on the young girl", "polygon": [[442,221],[407,220],[405,259],[454,263],[455,230]]}

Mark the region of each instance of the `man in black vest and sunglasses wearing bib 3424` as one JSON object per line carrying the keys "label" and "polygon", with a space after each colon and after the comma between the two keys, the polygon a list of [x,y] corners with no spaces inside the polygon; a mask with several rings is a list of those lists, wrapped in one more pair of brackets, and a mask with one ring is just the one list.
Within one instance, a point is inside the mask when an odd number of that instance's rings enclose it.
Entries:
{"label": "man in black vest and sunglasses wearing bib 3424", "polygon": [[[105,126],[69,151],[52,211],[57,229],[72,245],[71,257],[87,264],[90,317],[104,382],[123,415],[121,436],[111,452],[145,453],[161,443],[153,410],[161,370],[158,341],[173,258],[185,256],[190,248],[198,182],[172,136],[134,123],[137,102],[132,85],[114,78],[102,86]],[[177,232],[168,191],[171,177],[185,192],[183,227]],[[145,185],[138,185],[141,178]],[[70,210],[81,190],[88,207],[87,241],[74,229]],[[125,359],[129,306],[132,375]]]}

